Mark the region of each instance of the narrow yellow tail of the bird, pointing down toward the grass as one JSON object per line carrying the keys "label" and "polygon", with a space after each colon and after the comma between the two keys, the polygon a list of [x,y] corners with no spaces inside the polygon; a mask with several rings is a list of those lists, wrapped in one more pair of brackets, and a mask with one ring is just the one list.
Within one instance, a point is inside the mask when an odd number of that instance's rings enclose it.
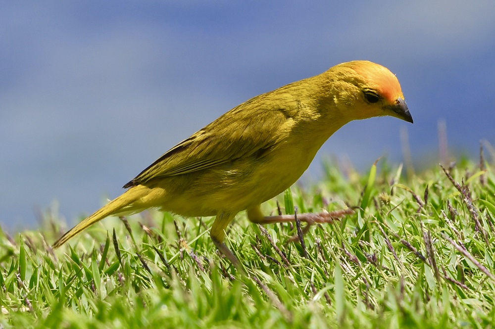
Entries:
{"label": "narrow yellow tail of the bird, pointing down toward the grass", "polygon": [[113,199],[108,204],[97,210],[93,215],[87,217],[81,223],[77,224],[67,233],[62,235],[62,237],[60,237],[58,240],[55,241],[55,243],[53,243],[53,248],[58,248],[73,236],[78,235],[79,233],[105,217],[108,217],[110,215],[117,215],[128,212],[136,213],[141,211],[142,209],[136,209],[135,207],[133,207],[133,203],[148,194],[148,192],[149,188],[142,185],[138,185],[128,189],[122,195]]}

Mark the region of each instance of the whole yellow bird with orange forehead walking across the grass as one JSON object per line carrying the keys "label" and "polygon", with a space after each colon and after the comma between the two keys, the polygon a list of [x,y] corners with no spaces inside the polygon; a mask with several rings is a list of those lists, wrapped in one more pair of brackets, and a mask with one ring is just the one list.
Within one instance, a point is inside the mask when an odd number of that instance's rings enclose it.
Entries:
{"label": "whole yellow bird with orange forehead walking across the grass", "polygon": [[[253,97],[172,147],[124,185],[126,192],[64,234],[53,246],[110,215],[148,208],[216,216],[210,236],[234,264],[225,229],[247,210],[258,224],[293,221],[263,216],[261,203],[293,185],[321,145],[352,120],[393,116],[412,123],[396,76],[369,61],[336,65],[320,75]],[[308,223],[338,214],[300,214]]]}

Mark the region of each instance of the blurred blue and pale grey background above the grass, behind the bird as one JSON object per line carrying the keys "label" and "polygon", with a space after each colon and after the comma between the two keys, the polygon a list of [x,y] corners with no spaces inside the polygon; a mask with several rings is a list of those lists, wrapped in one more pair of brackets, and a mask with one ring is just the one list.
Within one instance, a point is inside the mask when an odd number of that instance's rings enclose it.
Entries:
{"label": "blurred blue and pale grey background above the grass, behind the bird", "polygon": [[[335,2],[335,3],[333,3]],[[353,59],[396,73],[414,125],[352,122],[322,147],[369,168],[495,144],[495,1],[2,1],[0,225],[73,223],[248,98]],[[435,159],[434,159],[435,160]]]}

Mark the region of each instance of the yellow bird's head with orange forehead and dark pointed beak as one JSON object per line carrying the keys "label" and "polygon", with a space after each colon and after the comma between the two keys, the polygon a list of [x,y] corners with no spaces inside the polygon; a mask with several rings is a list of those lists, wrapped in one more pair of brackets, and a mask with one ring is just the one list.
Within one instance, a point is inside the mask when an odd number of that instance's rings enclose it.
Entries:
{"label": "yellow bird's head with orange forehead and dark pointed beak", "polygon": [[393,116],[413,123],[397,77],[386,67],[363,60],[334,66],[334,102],[350,120]]}

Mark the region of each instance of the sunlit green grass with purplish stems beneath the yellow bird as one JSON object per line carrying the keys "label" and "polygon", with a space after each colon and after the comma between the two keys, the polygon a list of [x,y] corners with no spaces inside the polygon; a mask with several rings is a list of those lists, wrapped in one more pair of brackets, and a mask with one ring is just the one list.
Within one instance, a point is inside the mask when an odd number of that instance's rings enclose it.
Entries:
{"label": "sunlit green grass with purplish stems beneath the yellow bird", "polygon": [[39,231],[0,232],[0,326],[492,328],[493,168],[446,171],[403,180],[384,160],[363,176],[328,165],[318,186],[279,196],[282,212],[360,208],[312,227],[304,247],[288,242],[296,225],[239,214],[227,244],[246,276],[215,250],[211,218],[109,218],[52,250],[62,224],[47,214]]}

